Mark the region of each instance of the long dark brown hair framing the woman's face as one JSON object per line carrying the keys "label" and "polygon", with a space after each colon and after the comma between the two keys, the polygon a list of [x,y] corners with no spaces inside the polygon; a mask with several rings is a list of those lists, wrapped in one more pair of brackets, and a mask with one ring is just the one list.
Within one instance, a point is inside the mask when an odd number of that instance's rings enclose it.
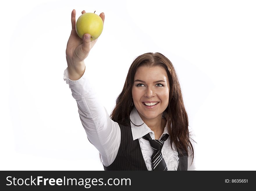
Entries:
{"label": "long dark brown hair framing the woman's face", "polygon": [[130,113],[134,107],[134,104],[132,105],[131,90],[134,84],[135,72],[140,66],[160,66],[166,70],[170,84],[170,91],[169,103],[164,112],[166,120],[168,121],[171,148],[173,149],[172,144],[174,143],[181,154],[189,156],[190,151],[193,162],[194,149],[189,140],[188,115],[184,106],[178,76],[171,61],[163,54],[159,52],[149,52],[135,58],[129,68],[122,92],[116,99],[116,105],[110,115],[110,118],[125,126],[130,122]]}

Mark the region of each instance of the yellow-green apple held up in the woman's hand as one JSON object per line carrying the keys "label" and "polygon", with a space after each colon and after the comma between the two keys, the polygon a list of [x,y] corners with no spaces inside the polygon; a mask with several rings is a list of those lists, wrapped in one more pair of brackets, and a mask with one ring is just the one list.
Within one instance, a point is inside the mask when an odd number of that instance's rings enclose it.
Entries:
{"label": "yellow-green apple held up in the woman's hand", "polygon": [[77,19],[76,31],[80,38],[83,35],[89,33],[91,35],[91,41],[97,39],[101,35],[103,30],[102,18],[94,13],[83,13]]}

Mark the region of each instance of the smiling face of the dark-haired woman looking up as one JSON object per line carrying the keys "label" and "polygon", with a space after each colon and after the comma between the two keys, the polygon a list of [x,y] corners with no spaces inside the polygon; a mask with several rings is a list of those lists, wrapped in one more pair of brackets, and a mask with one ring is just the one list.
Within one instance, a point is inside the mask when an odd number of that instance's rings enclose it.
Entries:
{"label": "smiling face of the dark-haired woman looking up", "polygon": [[142,120],[154,119],[159,115],[162,117],[162,113],[168,106],[169,89],[168,76],[163,67],[140,66],[137,68],[131,92],[134,106]]}

